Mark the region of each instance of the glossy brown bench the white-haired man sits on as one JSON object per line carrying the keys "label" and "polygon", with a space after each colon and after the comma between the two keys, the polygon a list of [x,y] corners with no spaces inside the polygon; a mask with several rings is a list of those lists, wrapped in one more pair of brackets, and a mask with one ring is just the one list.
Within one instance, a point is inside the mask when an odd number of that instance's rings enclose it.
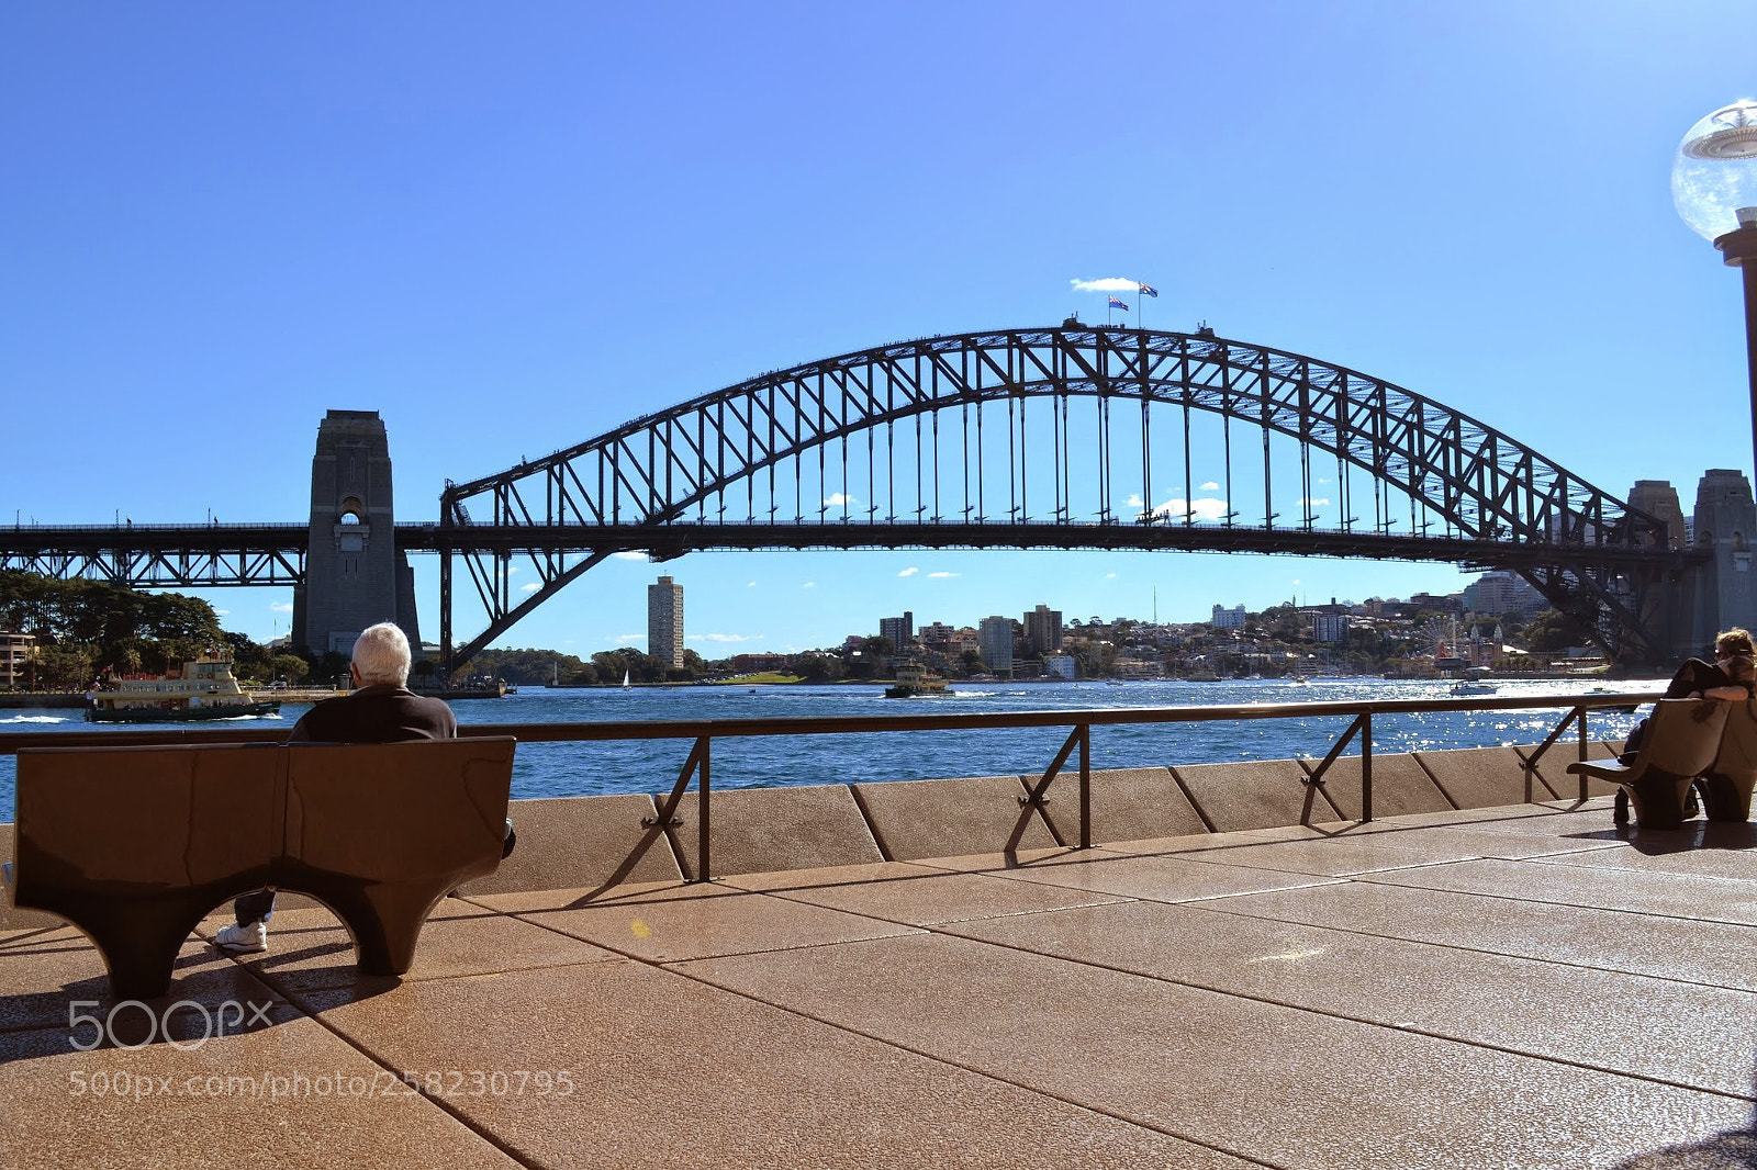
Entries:
{"label": "glossy brown bench the white-haired man sits on", "polygon": [[162,996],[214,906],[316,898],[367,975],[402,975],[434,905],[501,864],[511,738],[26,748],[12,903],[77,926],[123,1000]]}

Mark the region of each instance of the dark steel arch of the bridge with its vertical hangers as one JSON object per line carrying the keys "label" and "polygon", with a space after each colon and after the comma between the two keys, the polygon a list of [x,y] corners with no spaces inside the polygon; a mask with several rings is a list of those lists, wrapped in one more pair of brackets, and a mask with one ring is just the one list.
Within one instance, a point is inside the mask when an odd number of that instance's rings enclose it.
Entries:
{"label": "dark steel arch of the bridge with its vertical hangers", "polygon": [[[1066,450],[1074,427],[1068,404],[1082,397],[1096,401],[1100,473],[1095,509],[1077,515],[1075,487],[1088,476],[1074,469]],[[1051,418],[1047,427],[1037,420],[1035,457],[1037,466],[1047,464],[1047,473],[1028,476],[1031,464],[1024,455],[1033,430],[1026,425],[1026,408],[1045,401]],[[1139,497],[1132,492],[1121,502],[1112,483],[1116,469],[1109,466],[1117,459],[1112,415],[1126,416],[1126,432],[1135,425],[1130,415],[1135,404],[1139,436],[1128,437],[1139,443],[1140,467],[1130,467],[1128,483],[1139,487]],[[996,499],[991,518],[987,497],[1000,495],[1000,478],[996,467],[980,466],[984,451],[994,446],[991,436],[984,448],[982,423],[984,409],[1001,406],[1009,508],[1000,518]],[[1037,409],[1042,415],[1045,406]],[[1151,504],[1151,427],[1154,411],[1163,416],[1167,409],[1174,425],[1177,415],[1182,420],[1181,511]],[[968,466],[972,413],[975,469]],[[1262,525],[1235,524],[1235,511],[1197,513],[1191,413],[1218,416],[1225,427],[1228,501],[1232,427],[1262,434]],[[954,425],[959,415],[961,432]],[[998,423],[996,418],[991,429]],[[947,471],[942,430],[947,450],[963,444],[961,509],[958,485],[940,483]],[[898,434],[908,439],[914,455],[912,467],[905,455],[901,481]],[[878,436],[886,439],[884,450]],[[1042,436],[1052,448],[1047,457]],[[1291,439],[1298,450],[1304,515],[1297,524],[1276,524],[1270,436]],[[1121,459],[1130,460],[1133,450]],[[1334,459],[1342,471],[1339,529],[1314,524],[1309,506],[1314,453]],[[958,457],[951,462],[956,466]],[[787,497],[789,466],[792,524],[785,516],[777,520]],[[1349,515],[1355,509],[1349,469],[1372,481],[1370,525]],[[910,474],[914,508],[900,509],[898,495],[907,497]],[[815,506],[815,522],[806,515],[805,483],[824,492],[840,485]],[[889,508],[880,508],[886,487]],[[945,506],[942,487],[952,508]],[[866,490],[864,516],[850,509],[857,488]],[[1044,509],[1038,518],[1026,508],[1033,492]],[[740,511],[740,495],[745,518],[726,520],[729,504]],[[1409,529],[1402,534],[1393,531],[1400,522],[1400,513],[1390,515],[1393,495],[1409,502]],[[838,502],[840,515],[831,516]],[[1130,508],[1133,515],[1126,515]],[[1365,509],[1363,501],[1360,508]],[[1430,532],[1435,525],[1442,529],[1439,536]],[[752,539],[752,527],[764,531],[761,543]],[[495,538],[483,539],[490,531]],[[1012,539],[1009,531],[1030,538]],[[806,545],[1204,546],[1504,566],[1523,574],[1551,604],[1581,618],[1606,654],[1641,661],[1669,657],[1669,632],[1659,629],[1664,610],[1659,594],[1696,559],[1688,550],[1667,548],[1659,518],[1629,508],[1506,432],[1379,378],[1207,330],[1179,334],[1070,320],[1054,329],[903,341],[771,371],[499,474],[448,481],[436,532],[436,546],[445,553],[441,638],[448,657],[467,661],[615,552],[648,550],[664,559],[685,548]],[[508,573],[515,555],[529,557],[538,574],[538,587],[522,596],[511,592]],[[455,655],[453,559],[464,562],[490,618]]]}

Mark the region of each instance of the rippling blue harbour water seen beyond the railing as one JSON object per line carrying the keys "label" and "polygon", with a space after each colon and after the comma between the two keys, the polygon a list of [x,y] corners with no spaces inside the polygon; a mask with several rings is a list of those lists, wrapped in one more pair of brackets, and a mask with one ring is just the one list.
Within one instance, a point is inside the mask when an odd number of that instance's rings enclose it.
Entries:
{"label": "rippling blue harbour water seen beyond the railing", "polygon": [[[1499,683],[1497,697],[1522,694],[1580,694],[1595,683],[1518,680]],[[1660,689],[1662,683],[1627,683],[1620,689]],[[1081,683],[954,683],[936,699],[886,699],[884,687],[634,687],[559,689],[524,687],[504,699],[453,704],[460,724],[560,724],[685,719],[805,719],[826,715],[910,715],[929,711],[1072,711],[1132,706],[1211,706],[1242,703],[1365,703],[1374,699],[1450,697],[1450,682],[1385,678],[1314,678],[1305,685],[1286,680],[1130,682]],[[307,711],[286,704],[278,717],[225,720],[207,726],[292,727]],[[0,734],[19,731],[86,731],[79,711],[4,711]],[[1536,743],[1555,727],[1562,711],[1435,711],[1377,717],[1374,752]],[[1595,738],[1620,738],[1634,715],[1595,713]],[[1211,764],[1240,759],[1321,757],[1348,719],[1267,719],[1246,722],[1158,724],[1095,727],[1093,768],[1158,764]],[[188,724],[167,724],[186,727]],[[135,729],[151,727],[135,726]],[[924,780],[1038,773],[1061,747],[1066,731],[1000,729],[956,733],[903,733],[863,736],[766,736],[713,741],[717,789],[852,784],[871,780]],[[604,792],[669,791],[689,755],[689,740],[633,740],[606,743],[520,745],[513,771],[513,798],[597,796]],[[1358,747],[1349,747],[1358,752]],[[12,820],[14,761],[0,757],[0,822]]]}

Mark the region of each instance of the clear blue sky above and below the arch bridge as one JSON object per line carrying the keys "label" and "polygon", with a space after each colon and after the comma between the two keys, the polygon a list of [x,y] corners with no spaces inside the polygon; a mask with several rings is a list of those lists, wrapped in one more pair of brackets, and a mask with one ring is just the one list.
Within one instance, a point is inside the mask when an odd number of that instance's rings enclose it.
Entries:
{"label": "clear blue sky above and below the arch bridge", "polygon": [[[0,7],[0,508],[304,520],[327,409],[397,518],[887,341],[1102,320],[1348,365],[1623,495],[1752,467],[1738,272],[1671,204],[1757,97],[1748,0]],[[1124,297],[1133,304],[1133,299]],[[416,557],[422,632],[437,562]],[[705,657],[878,618],[1205,620],[1448,566],[1068,552],[611,559],[495,645]],[[184,590],[200,592],[200,590]],[[290,590],[207,590],[285,634]],[[481,617],[459,615],[460,636]]]}

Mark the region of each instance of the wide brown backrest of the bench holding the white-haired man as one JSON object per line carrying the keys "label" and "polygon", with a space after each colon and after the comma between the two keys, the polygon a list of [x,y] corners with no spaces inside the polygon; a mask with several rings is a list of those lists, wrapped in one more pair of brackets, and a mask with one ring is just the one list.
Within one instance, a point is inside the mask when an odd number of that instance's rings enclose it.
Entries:
{"label": "wide brown backrest of the bench holding the white-haired man", "polygon": [[26,748],[18,754],[18,896],[76,880],[299,889],[311,871],[397,880],[492,852],[511,738],[394,745]]}

